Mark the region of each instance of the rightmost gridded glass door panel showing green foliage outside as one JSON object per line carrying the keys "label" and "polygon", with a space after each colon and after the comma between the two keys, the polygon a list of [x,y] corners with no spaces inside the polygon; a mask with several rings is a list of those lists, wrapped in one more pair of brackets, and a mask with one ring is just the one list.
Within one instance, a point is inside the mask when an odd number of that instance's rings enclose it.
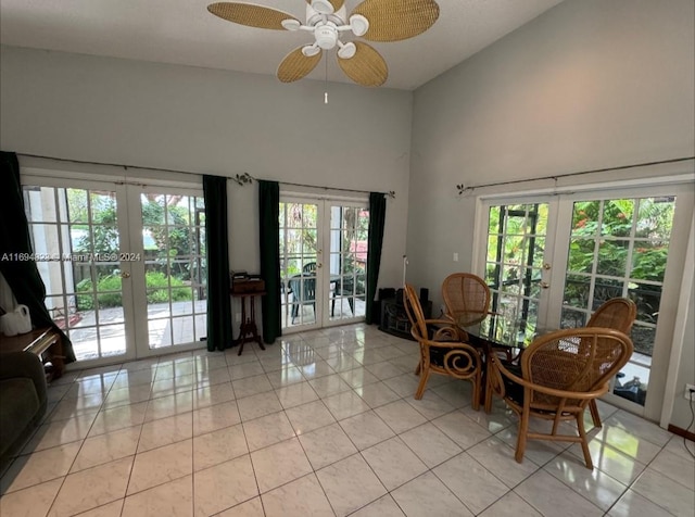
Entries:
{"label": "rightmost gridded glass door panel showing green foliage outside", "polygon": [[648,390],[674,213],[672,196],[572,203],[561,327],[585,325],[611,298],[634,301],[634,352],[615,379],[612,393],[641,406]]}

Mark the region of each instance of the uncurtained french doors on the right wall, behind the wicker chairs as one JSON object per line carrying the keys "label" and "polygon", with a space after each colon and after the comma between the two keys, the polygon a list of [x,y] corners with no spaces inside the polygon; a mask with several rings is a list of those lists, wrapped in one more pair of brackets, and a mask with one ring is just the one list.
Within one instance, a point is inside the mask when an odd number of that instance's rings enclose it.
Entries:
{"label": "uncurtained french doors on the right wall, behind the wicker chairs", "polygon": [[634,353],[606,399],[658,419],[671,339],[660,323],[674,312],[690,215],[677,206],[692,203],[692,189],[678,187],[482,201],[476,269],[484,269],[492,310],[532,337],[584,326],[605,301],[630,298]]}

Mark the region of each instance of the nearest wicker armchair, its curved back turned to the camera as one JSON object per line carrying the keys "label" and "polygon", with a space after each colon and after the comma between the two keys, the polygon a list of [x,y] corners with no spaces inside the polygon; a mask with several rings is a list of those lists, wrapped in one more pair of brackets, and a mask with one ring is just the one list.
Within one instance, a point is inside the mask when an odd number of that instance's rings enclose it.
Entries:
{"label": "nearest wicker armchair, its curved back turned to the camera", "polygon": [[[609,379],[628,362],[632,341],[618,330],[594,327],[558,330],[535,339],[511,373],[493,356],[488,389],[519,415],[516,461],[521,463],[532,440],[581,443],[586,468],[593,463],[584,430],[584,409],[608,391]],[[551,420],[551,432],[529,429],[531,417]],[[578,434],[559,434],[559,425],[577,423]]]}

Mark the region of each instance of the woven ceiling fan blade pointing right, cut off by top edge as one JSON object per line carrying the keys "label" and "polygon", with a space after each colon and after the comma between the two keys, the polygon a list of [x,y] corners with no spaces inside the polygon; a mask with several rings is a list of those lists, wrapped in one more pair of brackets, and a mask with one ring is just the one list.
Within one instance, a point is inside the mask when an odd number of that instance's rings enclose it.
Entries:
{"label": "woven ceiling fan blade pointing right, cut off by top edge", "polygon": [[365,0],[352,14],[369,21],[363,38],[369,41],[400,41],[425,33],[439,17],[434,0]]}

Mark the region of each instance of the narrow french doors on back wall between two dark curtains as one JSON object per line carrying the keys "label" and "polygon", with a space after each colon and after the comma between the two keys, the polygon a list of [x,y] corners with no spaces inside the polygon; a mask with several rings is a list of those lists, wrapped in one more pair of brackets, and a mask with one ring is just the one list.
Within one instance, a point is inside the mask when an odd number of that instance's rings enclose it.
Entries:
{"label": "narrow french doors on back wall between two dark curtains", "polygon": [[320,328],[365,316],[366,200],[280,200],[282,328]]}

